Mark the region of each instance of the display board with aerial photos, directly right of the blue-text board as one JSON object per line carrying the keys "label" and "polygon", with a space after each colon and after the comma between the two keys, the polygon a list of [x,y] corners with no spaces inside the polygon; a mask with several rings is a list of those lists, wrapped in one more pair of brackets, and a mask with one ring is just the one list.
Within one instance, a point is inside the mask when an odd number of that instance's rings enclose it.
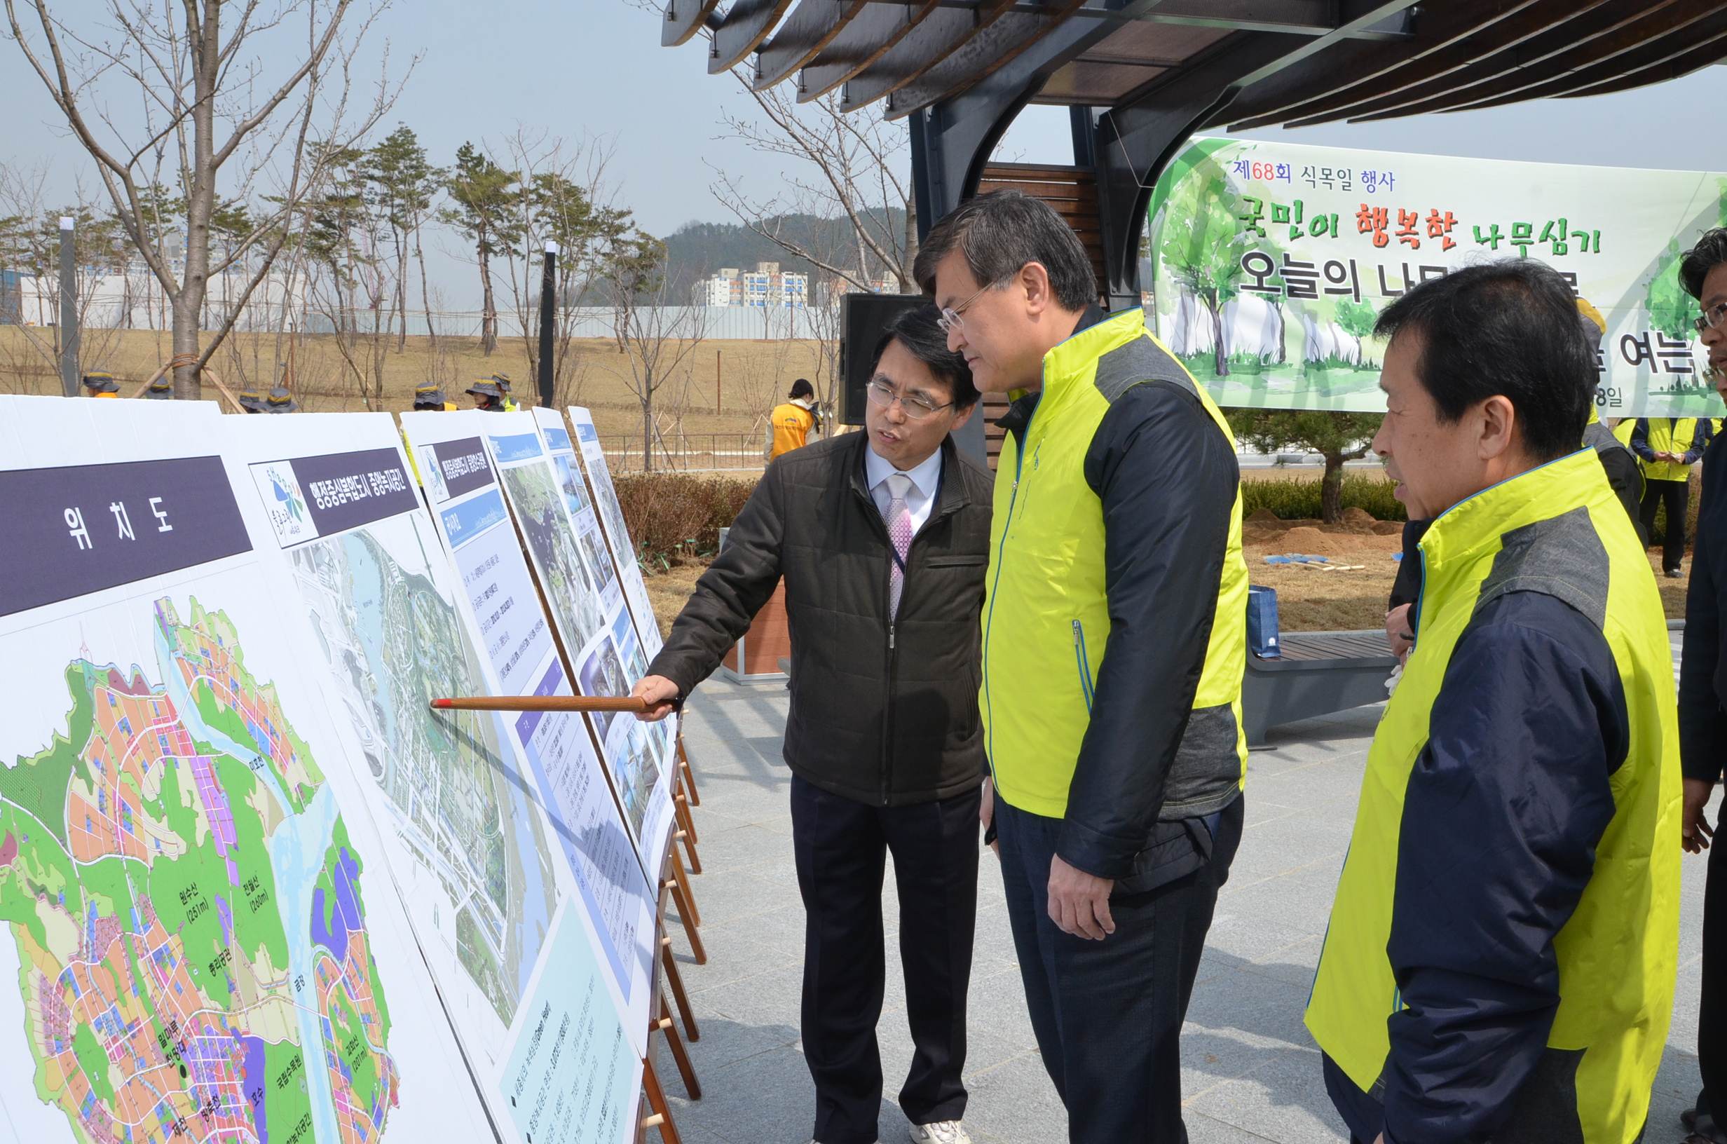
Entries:
{"label": "display board with aerial photos, directly right of the blue-text board", "polygon": [[[504,499],[522,532],[522,548],[539,575],[553,627],[573,665],[575,693],[629,695],[642,676],[646,658],[622,593],[603,588],[610,584],[615,589],[618,575],[592,512],[570,512],[579,498],[587,499],[579,484],[580,473],[570,467],[573,458],[551,454],[532,413],[490,413],[482,418],[482,427]],[[582,525],[587,525],[587,543],[582,541]],[[591,558],[604,562],[604,574],[589,567]],[[585,719],[611,772],[642,873],[658,887],[675,817],[670,731],[665,724],[644,724],[618,712],[591,712]]]}

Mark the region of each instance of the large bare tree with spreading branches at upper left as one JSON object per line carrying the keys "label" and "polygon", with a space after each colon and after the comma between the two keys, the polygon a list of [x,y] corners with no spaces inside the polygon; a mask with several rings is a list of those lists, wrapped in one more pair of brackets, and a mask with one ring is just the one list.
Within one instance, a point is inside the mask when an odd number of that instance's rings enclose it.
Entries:
{"label": "large bare tree with spreading branches at upper left", "polygon": [[[10,38],[95,159],[121,226],[168,297],[178,397],[200,396],[202,366],[269,275],[288,221],[323,183],[323,161],[359,140],[394,100],[380,83],[349,121],[356,50],[382,10],[344,24],[351,5],[185,0],[176,17],[171,5],[107,0],[100,16],[79,12],[74,28],[50,0],[5,0]],[[29,33],[19,9],[33,17]],[[233,17],[226,26],[225,16]],[[111,112],[111,76],[136,85],[142,114],[131,121]],[[161,244],[164,166],[178,181],[185,223],[178,270]],[[266,181],[276,194],[254,218]],[[249,271],[245,283],[228,292],[225,315],[207,320],[211,278],[230,271]],[[216,332],[200,347],[206,321]]]}

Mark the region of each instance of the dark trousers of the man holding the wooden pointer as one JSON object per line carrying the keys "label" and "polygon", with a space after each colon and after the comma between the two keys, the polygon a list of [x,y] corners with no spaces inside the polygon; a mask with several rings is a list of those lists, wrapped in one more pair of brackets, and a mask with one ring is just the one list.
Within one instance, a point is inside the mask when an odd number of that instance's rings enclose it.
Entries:
{"label": "dark trousers of the man holding the wooden pointer", "polygon": [[912,1123],[965,1115],[965,987],[977,926],[979,791],[870,807],[793,776],[791,842],[803,892],[803,1058],[815,1080],[815,1139],[872,1144],[881,1111],[876,1021],[886,978],[881,885],[888,850],[900,892],[900,966]]}

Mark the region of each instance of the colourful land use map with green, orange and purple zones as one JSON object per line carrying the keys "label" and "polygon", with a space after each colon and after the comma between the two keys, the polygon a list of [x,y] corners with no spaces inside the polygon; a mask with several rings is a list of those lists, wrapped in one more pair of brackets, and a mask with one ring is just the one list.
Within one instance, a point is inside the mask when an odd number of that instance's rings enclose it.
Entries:
{"label": "colourful land use map with green, orange and purple zones", "polygon": [[185,608],[154,603],[159,679],[86,651],[67,733],[0,769],[0,1035],[79,1141],[366,1144],[401,1077],[359,857],[240,632]]}

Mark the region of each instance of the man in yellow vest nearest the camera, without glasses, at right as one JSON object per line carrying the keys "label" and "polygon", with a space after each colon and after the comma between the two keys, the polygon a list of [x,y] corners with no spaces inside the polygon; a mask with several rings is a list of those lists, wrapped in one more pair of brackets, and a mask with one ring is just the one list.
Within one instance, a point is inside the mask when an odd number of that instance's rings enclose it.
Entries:
{"label": "man in yellow vest nearest the camera, without glasses, at right", "polygon": [[1307,1006],[1363,1144],[1632,1144],[1679,959],[1660,593],[1592,449],[1570,285],[1466,266],[1378,320],[1373,441],[1421,537]]}

